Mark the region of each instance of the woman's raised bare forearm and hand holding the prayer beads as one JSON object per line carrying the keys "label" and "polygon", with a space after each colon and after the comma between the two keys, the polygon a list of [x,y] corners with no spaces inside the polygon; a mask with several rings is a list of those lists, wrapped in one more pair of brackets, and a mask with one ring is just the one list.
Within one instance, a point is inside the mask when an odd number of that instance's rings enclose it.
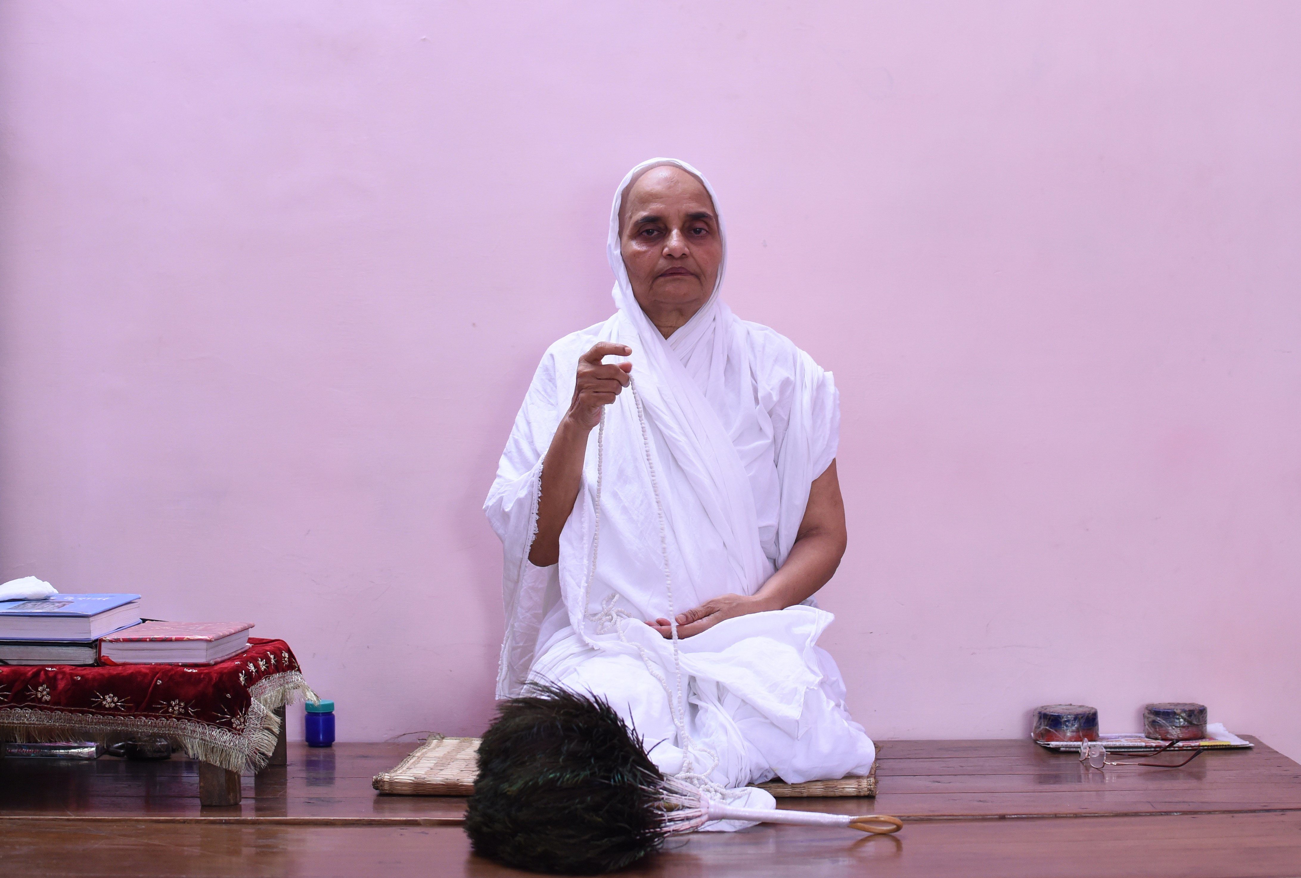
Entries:
{"label": "woman's raised bare forearm and hand holding the prayer beads", "polygon": [[627,345],[600,342],[578,362],[578,380],[574,382],[574,401],[556,428],[552,445],[543,460],[541,494],[537,498],[537,536],[528,549],[528,561],[537,567],[549,567],[561,558],[561,531],[574,511],[578,489],[583,484],[583,458],[587,455],[587,437],[601,423],[601,410],[614,402],[628,386],[632,363],[606,366],[605,356],[627,356]]}

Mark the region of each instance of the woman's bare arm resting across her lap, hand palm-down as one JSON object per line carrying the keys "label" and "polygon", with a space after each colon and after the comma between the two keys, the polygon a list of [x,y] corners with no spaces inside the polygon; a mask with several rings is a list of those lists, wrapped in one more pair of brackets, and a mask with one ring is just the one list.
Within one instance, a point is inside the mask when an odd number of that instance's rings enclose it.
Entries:
{"label": "woman's bare arm resting across her lap, hand palm-down", "polygon": [[[693,610],[679,613],[678,636],[690,637],[723,619],[747,613],[783,610],[800,604],[831,579],[840,566],[847,539],[840,480],[835,473],[835,460],[831,460],[809,488],[804,519],[782,568],[755,594],[721,594]],[[665,637],[671,633],[669,619],[656,619],[648,624]]]}

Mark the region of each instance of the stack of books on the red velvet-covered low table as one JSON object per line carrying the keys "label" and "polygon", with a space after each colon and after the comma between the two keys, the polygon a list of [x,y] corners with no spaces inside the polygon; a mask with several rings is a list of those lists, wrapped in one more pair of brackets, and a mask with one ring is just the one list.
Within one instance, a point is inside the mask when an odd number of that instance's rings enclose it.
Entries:
{"label": "stack of books on the red velvet-covered low table", "polygon": [[213,665],[251,622],[142,622],[139,594],[0,601],[0,665]]}

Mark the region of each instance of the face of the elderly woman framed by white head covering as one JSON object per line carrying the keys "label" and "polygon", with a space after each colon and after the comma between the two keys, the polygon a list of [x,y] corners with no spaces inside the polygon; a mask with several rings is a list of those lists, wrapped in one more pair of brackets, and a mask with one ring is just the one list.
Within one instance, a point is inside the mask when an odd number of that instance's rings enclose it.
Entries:
{"label": "face of the elderly woman framed by white head covering", "polygon": [[650,168],[628,189],[621,221],[623,264],[643,311],[652,319],[695,313],[713,293],[723,258],[704,185],[674,165]]}

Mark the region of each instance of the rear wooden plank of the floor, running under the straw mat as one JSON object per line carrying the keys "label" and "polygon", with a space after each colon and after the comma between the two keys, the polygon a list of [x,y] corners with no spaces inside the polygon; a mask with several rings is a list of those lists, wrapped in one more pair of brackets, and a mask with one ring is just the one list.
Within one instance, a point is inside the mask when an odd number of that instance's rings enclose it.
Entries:
{"label": "rear wooden plank of the floor, running under the straw mat", "polygon": [[[934,744],[947,756],[926,753]],[[1030,741],[885,741],[876,800],[783,800],[782,806],[840,813],[894,813],[909,819],[999,814],[1158,814],[1301,808],[1301,766],[1272,748],[1214,752],[1184,769],[1082,769],[1068,754]],[[371,777],[393,767],[411,744],[289,748],[289,765],[242,778],[239,816],[277,818],[450,819],[459,799],[377,796]],[[981,753],[993,753],[980,756]],[[199,816],[198,764],[7,760],[0,764],[5,813]]]}

